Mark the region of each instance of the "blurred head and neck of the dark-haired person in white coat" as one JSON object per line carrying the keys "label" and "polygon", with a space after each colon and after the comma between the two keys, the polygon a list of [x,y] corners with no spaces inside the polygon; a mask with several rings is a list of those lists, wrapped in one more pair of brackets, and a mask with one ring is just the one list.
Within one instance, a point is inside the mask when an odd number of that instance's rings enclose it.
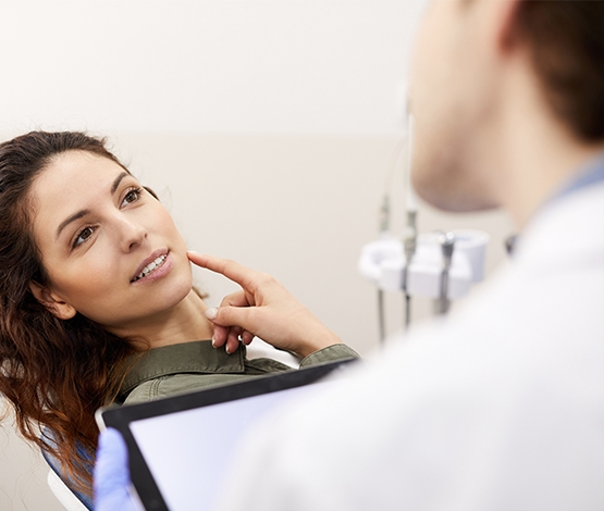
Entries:
{"label": "blurred head and neck of the dark-haired person in white coat", "polygon": [[604,145],[601,2],[436,0],[411,76],[414,184],[519,224]]}

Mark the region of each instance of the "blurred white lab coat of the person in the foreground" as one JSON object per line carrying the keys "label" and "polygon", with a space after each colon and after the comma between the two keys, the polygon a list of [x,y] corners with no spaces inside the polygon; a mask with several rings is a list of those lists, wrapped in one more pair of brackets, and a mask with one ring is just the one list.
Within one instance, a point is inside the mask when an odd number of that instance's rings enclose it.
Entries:
{"label": "blurred white lab coat of the person in the foreground", "polygon": [[604,185],[442,323],[248,437],[220,509],[603,510]]}

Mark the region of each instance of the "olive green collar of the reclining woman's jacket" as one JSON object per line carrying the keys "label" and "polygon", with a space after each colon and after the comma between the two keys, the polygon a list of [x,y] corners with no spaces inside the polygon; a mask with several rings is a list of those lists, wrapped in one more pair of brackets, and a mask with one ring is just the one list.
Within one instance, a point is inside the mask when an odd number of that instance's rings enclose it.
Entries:
{"label": "olive green collar of the reclining woman's jacket", "polygon": [[180,373],[244,373],[245,346],[231,354],[212,347],[211,340],[196,340],[153,348],[134,356],[132,369],[120,388],[120,396],[130,394],[144,382]]}

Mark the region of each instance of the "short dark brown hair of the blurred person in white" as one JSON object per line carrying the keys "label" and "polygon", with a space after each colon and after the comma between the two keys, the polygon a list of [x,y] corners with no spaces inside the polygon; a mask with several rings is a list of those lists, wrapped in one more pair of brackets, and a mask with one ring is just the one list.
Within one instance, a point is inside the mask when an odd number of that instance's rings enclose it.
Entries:
{"label": "short dark brown hair of the blurred person in white", "polygon": [[555,114],[580,139],[604,139],[604,2],[521,1],[515,36],[531,49]]}

